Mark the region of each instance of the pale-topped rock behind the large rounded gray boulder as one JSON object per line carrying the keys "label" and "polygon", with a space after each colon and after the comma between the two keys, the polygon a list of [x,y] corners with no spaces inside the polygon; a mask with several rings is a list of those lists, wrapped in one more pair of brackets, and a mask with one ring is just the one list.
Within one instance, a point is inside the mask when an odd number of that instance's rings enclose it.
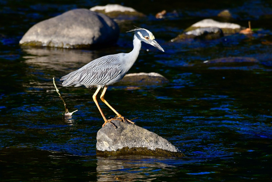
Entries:
{"label": "pale-topped rock behind the large rounded gray boulder", "polygon": [[107,4],[106,6],[94,6],[90,8],[91,11],[106,14],[111,18],[118,19],[137,19],[144,17],[143,13],[136,11],[131,7],[122,6],[120,4]]}

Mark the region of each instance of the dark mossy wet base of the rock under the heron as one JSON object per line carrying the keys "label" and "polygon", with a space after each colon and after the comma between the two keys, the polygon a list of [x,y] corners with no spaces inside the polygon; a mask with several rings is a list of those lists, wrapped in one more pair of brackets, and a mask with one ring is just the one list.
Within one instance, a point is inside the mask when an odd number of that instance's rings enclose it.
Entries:
{"label": "dark mossy wet base of the rock under the heron", "polygon": [[96,150],[96,155],[101,157],[124,156],[124,155],[141,155],[141,156],[158,156],[158,157],[185,157],[181,152],[171,152],[157,148],[149,150],[146,147],[124,147],[116,151],[100,151]]}

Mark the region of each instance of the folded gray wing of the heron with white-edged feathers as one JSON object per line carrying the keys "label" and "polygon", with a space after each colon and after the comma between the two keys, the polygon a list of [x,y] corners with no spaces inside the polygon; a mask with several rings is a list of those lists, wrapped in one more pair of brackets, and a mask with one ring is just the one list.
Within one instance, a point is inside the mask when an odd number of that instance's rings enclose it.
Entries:
{"label": "folded gray wing of the heron with white-edged feathers", "polygon": [[95,59],[60,80],[65,80],[63,86],[104,85],[121,72],[118,55],[108,55]]}

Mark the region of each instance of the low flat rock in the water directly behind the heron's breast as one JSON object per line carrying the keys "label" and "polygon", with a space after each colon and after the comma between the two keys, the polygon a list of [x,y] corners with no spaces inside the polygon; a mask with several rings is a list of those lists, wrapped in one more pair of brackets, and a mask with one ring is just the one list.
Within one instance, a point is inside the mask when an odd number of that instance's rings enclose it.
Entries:
{"label": "low flat rock in the water directly behind the heron's breast", "polygon": [[[133,83],[134,85],[157,85],[168,83],[168,79],[159,73],[129,73],[121,79],[118,84]],[[131,85],[131,84],[129,84]]]}

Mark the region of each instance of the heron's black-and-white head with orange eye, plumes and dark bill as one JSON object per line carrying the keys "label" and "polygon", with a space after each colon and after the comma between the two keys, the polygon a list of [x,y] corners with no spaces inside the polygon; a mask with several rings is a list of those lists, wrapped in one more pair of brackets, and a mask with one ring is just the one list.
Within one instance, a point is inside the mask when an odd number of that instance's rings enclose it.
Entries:
{"label": "heron's black-and-white head with orange eye, plumes and dark bill", "polygon": [[[136,28],[136,29],[132,29],[131,31],[134,31],[136,37],[140,41],[150,44],[150,45],[156,47],[157,49],[161,50],[162,52],[164,52],[163,48],[160,46],[159,43],[157,43],[154,35],[149,30],[144,29],[144,28]],[[131,31],[129,31],[129,32],[131,32]]]}

